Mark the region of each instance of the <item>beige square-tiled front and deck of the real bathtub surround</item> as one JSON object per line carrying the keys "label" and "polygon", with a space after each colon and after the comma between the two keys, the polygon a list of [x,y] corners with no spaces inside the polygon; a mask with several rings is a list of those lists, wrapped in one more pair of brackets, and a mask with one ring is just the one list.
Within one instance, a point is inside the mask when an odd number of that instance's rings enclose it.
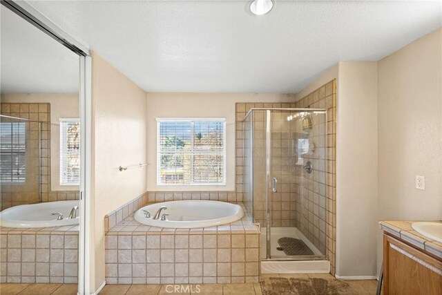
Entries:
{"label": "beige square-tiled front and deck of the real bathtub surround", "polygon": [[259,236],[247,215],[218,227],[168,229],[131,213],[106,233],[106,283],[258,283]]}

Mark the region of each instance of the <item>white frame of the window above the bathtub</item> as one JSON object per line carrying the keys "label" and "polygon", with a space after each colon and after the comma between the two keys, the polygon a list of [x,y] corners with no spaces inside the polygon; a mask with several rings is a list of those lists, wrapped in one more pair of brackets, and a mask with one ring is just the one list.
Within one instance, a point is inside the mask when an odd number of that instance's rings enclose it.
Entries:
{"label": "white frame of the window above the bathtub", "polygon": [[[155,118],[155,121],[157,122],[157,171],[156,171],[156,177],[157,177],[157,186],[158,187],[207,187],[207,186],[226,186],[227,184],[227,146],[226,146],[226,118],[225,117],[189,117],[189,118],[183,118],[183,117],[162,117],[162,118]],[[222,146],[224,148],[224,153],[222,153],[222,182],[191,182],[189,184],[185,183],[161,183],[160,182],[160,167],[161,167],[161,152],[160,152],[160,142],[161,142],[161,136],[160,136],[160,124],[162,122],[191,122],[191,142],[193,143],[195,132],[194,131],[194,122],[222,122]],[[193,149],[193,147],[192,147]],[[193,153],[192,153],[192,160],[191,165],[193,166]],[[191,169],[193,171],[193,169]],[[191,179],[193,179],[191,177]]]}

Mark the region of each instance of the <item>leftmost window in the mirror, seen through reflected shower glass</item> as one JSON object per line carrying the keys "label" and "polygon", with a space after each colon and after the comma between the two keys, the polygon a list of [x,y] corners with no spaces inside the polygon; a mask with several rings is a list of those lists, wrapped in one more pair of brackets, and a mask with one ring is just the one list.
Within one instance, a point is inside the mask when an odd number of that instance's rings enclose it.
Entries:
{"label": "leftmost window in the mirror, seen through reflected shower glass", "polygon": [[26,123],[0,122],[0,182],[26,180]]}

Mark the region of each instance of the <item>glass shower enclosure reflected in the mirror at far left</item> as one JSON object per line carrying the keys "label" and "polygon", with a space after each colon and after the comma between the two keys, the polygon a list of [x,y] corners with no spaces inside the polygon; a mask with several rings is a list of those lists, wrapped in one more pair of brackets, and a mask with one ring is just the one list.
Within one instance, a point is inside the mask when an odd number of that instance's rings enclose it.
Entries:
{"label": "glass shower enclosure reflected in the mirror at far left", "polygon": [[41,122],[0,116],[0,210],[41,202]]}

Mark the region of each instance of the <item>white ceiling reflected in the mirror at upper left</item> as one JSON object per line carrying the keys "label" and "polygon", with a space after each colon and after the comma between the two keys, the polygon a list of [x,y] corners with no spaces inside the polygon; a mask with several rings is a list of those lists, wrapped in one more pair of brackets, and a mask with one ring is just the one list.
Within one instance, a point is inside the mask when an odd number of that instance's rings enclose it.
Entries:
{"label": "white ceiling reflected in the mirror at upper left", "polygon": [[78,93],[78,56],[0,6],[1,93]]}

